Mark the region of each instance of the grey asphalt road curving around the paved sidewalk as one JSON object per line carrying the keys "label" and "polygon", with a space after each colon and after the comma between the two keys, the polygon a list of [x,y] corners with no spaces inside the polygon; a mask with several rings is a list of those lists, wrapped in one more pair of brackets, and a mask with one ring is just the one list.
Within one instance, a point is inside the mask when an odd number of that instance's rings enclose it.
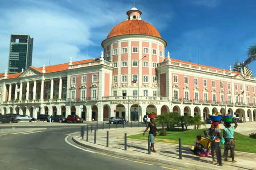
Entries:
{"label": "grey asphalt road curving around the paved sidewalk", "polygon": [[184,170],[90,151],[72,141],[75,132],[80,132],[80,126],[0,135],[0,170]]}

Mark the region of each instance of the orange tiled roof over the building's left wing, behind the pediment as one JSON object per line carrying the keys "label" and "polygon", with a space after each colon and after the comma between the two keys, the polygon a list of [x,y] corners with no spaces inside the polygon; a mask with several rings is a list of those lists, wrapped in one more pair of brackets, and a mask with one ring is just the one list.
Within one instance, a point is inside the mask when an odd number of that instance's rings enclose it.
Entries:
{"label": "orange tiled roof over the building's left wing, behind the pediment", "polygon": [[[72,64],[79,64],[79,63],[85,63],[85,62],[92,62],[93,59],[88,59],[88,60],[82,60],[82,61],[78,61],[78,62],[72,62]],[[68,70],[68,64],[69,63],[64,63],[64,64],[58,64],[58,65],[53,65],[53,66],[46,66],[44,67],[46,73],[52,73],[52,72],[57,72],[57,71],[63,71],[63,70]],[[35,69],[39,72],[42,73],[42,70],[43,70],[43,67],[34,67],[34,66],[30,66],[32,69]],[[4,73],[0,73],[0,77],[1,77],[1,74],[3,74],[4,76]],[[19,77],[21,73],[16,73],[16,74],[8,74],[7,78],[16,78],[16,77]]]}

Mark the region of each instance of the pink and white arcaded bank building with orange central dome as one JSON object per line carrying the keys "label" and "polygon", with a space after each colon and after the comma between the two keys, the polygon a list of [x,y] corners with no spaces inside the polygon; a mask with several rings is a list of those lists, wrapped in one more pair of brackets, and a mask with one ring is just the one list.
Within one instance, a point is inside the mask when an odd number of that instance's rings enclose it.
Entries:
{"label": "pink and white arcaded bank building with orange central dome", "polygon": [[0,73],[0,113],[78,115],[86,121],[147,113],[229,112],[255,121],[256,77],[165,57],[167,42],[132,8],[101,43],[99,58]]}

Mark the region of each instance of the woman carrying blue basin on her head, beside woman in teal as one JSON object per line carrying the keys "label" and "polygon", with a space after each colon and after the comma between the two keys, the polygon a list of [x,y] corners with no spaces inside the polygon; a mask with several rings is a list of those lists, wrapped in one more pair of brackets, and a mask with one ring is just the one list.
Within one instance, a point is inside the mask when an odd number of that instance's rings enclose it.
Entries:
{"label": "woman carrying blue basin on her head, beside woman in teal", "polygon": [[212,162],[217,163],[214,158],[214,152],[216,151],[217,160],[221,161],[221,158],[219,158],[219,155],[221,157],[221,154],[219,153],[217,147],[218,144],[220,145],[220,138],[221,138],[221,131],[218,128],[219,122],[213,122],[212,128],[209,128],[208,131],[204,130],[204,135],[207,137],[207,135],[211,136],[211,155],[212,155]]}

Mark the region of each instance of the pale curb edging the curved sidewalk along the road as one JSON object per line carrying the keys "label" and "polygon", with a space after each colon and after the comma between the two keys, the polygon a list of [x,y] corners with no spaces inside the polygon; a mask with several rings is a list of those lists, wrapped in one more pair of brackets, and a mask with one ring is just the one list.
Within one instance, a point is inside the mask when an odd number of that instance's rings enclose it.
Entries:
{"label": "pale curb edging the curved sidewalk along the road", "polygon": [[[124,153],[115,152],[115,151],[108,151],[106,149],[101,149],[101,148],[98,148],[98,147],[93,147],[93,146],[87,145],[85,143],[80,143],[78,140],[76,140],[74,138],[74,136],[72,136],[72,140],[75,143],[77,143],[77,144],[79,144],[83,147],[87,147],[87,148],[92,149],[92,150],[105,152],[105,153],[112,154],[112,155],[119,155],[119,156],[124,156],[124,157],[127,157],[127,158],[135,158],[135,159],[140,159],[140,160],[149,161],[149,162],[163,163],[163,164],[168,164],[168,165],[172,165],[172,166],[179,166],[179,167],[184,167],[184,168],[194,169],[194,170],[205,170],[204,166],[197,166],[197,165],[194,165],[194,164],[185,163],[182,159],[181,160],[177,159],[176,161],[171,161],[171,160],[163,160],[163,159],[157,159],[157,158],[149,158],[149,157],[146,157],[146,156],[124,154]],[[220,168],[220,167],[222,167],[222,168]],[[223,166],[212,165],[212,168],[207,167],[207,169],[208,170],[223,170]]]}

